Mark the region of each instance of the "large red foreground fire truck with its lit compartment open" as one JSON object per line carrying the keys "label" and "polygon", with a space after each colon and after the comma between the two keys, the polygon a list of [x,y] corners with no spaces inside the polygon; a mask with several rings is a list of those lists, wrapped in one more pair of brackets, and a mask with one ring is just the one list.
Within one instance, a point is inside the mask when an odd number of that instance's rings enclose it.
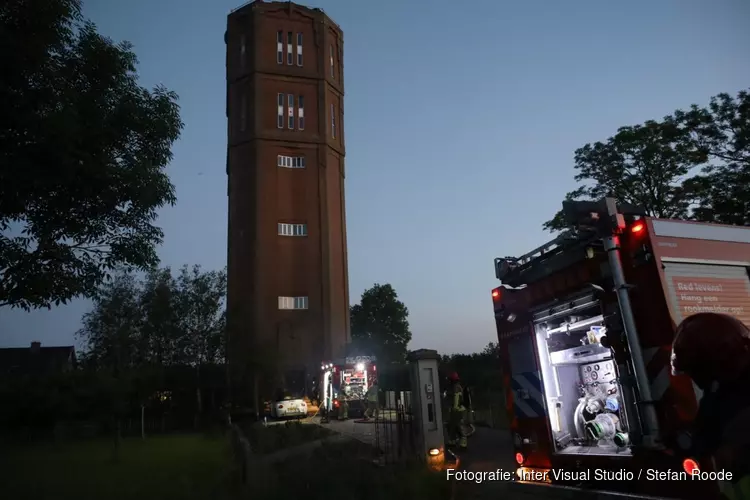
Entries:
{"label": "large red foreground fire truck with its lit compartment open", "polygon": [[720,471],[689,454],[701,392],[671,375],[671,343],[698,312],[750,324],[750,227],[652,219],[612,199],[563,209],[575,229],[495,259],[518,479],[717,497]]}

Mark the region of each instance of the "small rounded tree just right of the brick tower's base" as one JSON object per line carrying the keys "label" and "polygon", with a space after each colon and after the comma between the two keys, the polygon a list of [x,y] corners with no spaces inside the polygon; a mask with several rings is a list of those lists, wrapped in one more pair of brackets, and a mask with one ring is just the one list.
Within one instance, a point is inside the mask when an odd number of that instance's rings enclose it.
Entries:
{"label": "small rounded tree just right of the brick tower's base", "polygon": [[403,362],[411,341],[409,310],[389,284],[365,290],[350,310],[353,348],[373,353],[378,362]]}

